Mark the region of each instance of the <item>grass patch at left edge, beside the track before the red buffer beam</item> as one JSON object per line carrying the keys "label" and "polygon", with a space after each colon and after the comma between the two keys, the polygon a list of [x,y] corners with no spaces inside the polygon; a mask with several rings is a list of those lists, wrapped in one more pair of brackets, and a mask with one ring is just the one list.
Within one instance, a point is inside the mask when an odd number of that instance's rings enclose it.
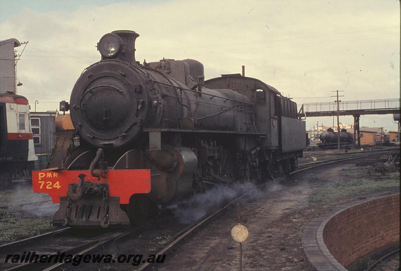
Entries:
{"label": "grass patch at left edge, beside the track before the red buffer beam", "polygon": [[53,227],[51,219],[16,218],[0,209],[0,242],[12,242],[31,237]]}

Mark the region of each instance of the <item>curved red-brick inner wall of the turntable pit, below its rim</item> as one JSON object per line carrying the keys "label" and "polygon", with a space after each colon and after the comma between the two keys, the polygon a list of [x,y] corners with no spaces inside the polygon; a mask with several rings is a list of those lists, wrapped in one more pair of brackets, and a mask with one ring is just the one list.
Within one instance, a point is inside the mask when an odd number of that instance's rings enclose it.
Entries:
{"label": "curved red-brick inner wall of the turntable pit, below its rim", "polygon": [[324,226],[323,239],[343,266],[399,241],[399,194],[349,207]]}

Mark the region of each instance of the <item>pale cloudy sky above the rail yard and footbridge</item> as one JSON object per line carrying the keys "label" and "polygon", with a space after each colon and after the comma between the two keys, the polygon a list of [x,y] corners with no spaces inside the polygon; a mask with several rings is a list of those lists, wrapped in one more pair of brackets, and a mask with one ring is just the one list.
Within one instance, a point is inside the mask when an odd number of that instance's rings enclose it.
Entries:
{"label": "pale cloudy sky above the rail yard and footbridge", "polygon": [[[206,79],[245,65],[298,104],[333,101],[336,89],[344,101],[399,98],[399,8],[398,0],[0,0],[0,40],[29,41],[18,93],[33,110],[38,100],[38,111],[69,100],[82,70],[100,60],[100,37],[117,29],[140,34],[141,62],[193,58]],[[309,117],[306,126],[332,122]],[[363,115],[360,125],[397,127],[389,114]]]}

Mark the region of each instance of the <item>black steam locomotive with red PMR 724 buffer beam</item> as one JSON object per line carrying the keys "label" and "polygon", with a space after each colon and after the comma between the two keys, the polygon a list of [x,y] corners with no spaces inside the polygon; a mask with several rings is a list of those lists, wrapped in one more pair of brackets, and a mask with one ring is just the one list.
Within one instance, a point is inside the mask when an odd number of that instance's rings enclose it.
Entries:
{"label": "black steam locomotive with red PMR 724 buffer beam", "polygon": [[60,202],[55,223],[138,224],[154,204],[294,169],[306,147],[294,101],[244,74],[205,81],[193,59],[140,64],[138,36],[103,35],[101,60],[60,104],[75,129],[70,147],[59,165],[33,172],[34,190]]}

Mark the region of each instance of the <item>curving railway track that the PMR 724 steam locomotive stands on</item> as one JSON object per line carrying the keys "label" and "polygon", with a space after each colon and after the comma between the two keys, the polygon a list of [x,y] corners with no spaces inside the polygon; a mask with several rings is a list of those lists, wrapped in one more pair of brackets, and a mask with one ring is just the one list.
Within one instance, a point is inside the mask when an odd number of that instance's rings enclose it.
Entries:
{"label": "curving railway track that the PMR 724 steam locomotive stands on", "polygon": [[[388,150],[383,150],[383,152],[388,152]],[[302,165],[302,168],[298,168],[296,171],[293,171],[291,174],[298,173],[300,171],[304,171],[307,169],[315,168],[318,166],[323,166],[327,164],[332,164],[332,163],[337,163],[337,162],[343,162],[346,160],[352,160],[352,159],[358,159],[358,158],[363,158],[371,155],[380,155],[378,152],[374,153],[364,153],[360,155],[353,155],[352,157],[341,157],[341,158],[335,158],[335,159],[329,159],[329,160],[322,160],[319,162],[313,162],[313,163],[308,163]],[[284,177],[279,177],[278,179],[282,179]],[[262,188],[262,186],[266,185],[267,182],[262,183],[258,185],[258,188]],[[227,210],[229,207],[233,206],[235,203],[239,202],[241,199],[243,199],[245,196],[247,196],[249,193],[252,193],[252,191],[245,192],[236,198],[232,199],[230,202],[224,204],[222,207],[219,209],[215,210],[211,214],[207,214],[203,216],[202,218],[196,220],[195,222],[191,223],[188,226],[181,226],[180,228],[175,227],[175,233],[171,238],[168,239],[168,241],[165,242],[163,245],[158,245],[157,247],[154,247],[153,250],[157,253],[155,255],[163,255],[170,251],[172,248],[177,247],[177,245],[185,238],[190,236],[193,232],[195,232],[197,229],[205,225],[207,222],[211,221],[213,218],[221,214],[223,211]],[[155,219],[152,219],[148,221],[146,224],[139,226],[139,227],[134,227],[134,228],[128,228],[128,229],[121,229],[121,230],[116,230],[116,231],[109,231],[109,232],[100,232],[97,234],[94,234],[92,232],[92,235],[83,235],[83,236],[75,236],[70,233],[73,233],[73,229],[71,228],[64,228],[64,229],[59,229],[55,230],[52,232],[48,232],[45,234],[41,234],[35,237],[27,238],[24,240],[16,241],[13,243],[5,244],[0,246],[0,259],[5,258],[5,254],[15,254],[15,253],[20,253],[22,254],[23,251],[36,251],[36,253],[43,253],[43,254],[56,254],[57,252],[65,252],[66,254],[87,254],[89,252],[94,252],[98,250],[105,250],[106,247],[110,244],[116,244],[116,241],[119,239],[124,239],[126,241],[127,239],[130,238],[142,238],[144,237],[140,234],[142,230],[146,230],[150,228],[149,231],[153,230],[153,227],[157,225],[156,220],[158,218],[156,217]],[[171,219],[169,219],[171,220]],[[160,223],[159,223],[160,224]],[[159,225],[160,226],[160,225]],[[161,226],[163,227],[163,226]],[[171,227],[174,227],[172,225]],[[161,232],[163,232],[161,230]],[[126,237],[126,238],[125,238]],[[151,234],[147,237],[148,239],[152,238]],[[68,240],[68,242],[66,242]],[[150,242],[152,243],[152,242]],[[64,244],[64,245],[55,245],[55,244]],[[116,250],[119,248],[117,247]],[[49,251],[50,250],[50,251]],[[108,251],[108,250],[106,250]],[[7,253],[6,253],[7,252]],[[23,263],[23,264],[6,264],[5,266],[2,267],[2,270],[61,270],[62,266],[65,266],[70,263],[65,263],[65,262],[59,262],[55,264],[50,264],[50,263]],[[85,264],[84,264],[85,265]],[[142,262],[141,265],[136,266],[137,270],[145,270],[149,268],[152,265],[152,263],[149,262]],[[75,266],[74,266],[75,267]],[[79,269],[87,269],[87,266],[78,266],[80,267]],[[122,267],[122,266],[119,266]],[[132,266],[130,266],[132,267]],[[132,269],[132,268],[131,268]]]}

